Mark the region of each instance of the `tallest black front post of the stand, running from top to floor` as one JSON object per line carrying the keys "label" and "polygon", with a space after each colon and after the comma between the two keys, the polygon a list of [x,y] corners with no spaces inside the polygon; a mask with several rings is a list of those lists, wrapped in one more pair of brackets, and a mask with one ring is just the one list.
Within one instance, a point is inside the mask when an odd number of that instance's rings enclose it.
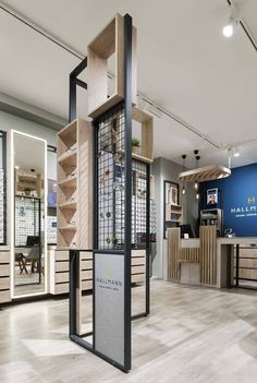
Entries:
{"label": "tallest black front post of the stand, running from top to floor", "polygon": [[124,367],[131,369],[131,220],[132,220],[132,17],[124,16],[125,106],[125,252],[124,252]]}

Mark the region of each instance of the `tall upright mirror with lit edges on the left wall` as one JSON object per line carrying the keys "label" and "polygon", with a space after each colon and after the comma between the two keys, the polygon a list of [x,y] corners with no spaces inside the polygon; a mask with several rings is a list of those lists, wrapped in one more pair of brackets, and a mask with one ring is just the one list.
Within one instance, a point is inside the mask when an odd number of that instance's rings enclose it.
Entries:
{"label": "tall upright mirror with lit edges on the left wall", "polygon": [[12,131],[13,297],[46,292],[46,141]]}

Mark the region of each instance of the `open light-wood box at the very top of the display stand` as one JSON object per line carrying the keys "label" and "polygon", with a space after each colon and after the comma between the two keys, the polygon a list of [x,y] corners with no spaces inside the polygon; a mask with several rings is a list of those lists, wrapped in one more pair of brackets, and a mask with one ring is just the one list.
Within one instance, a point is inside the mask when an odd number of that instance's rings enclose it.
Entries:
{"label": "open light-wood box at the very top of the display stand", "polygon": [[[136,28],[132,29],[132,101],[136,104]],[[108,89],[108,59],[115,55],[114,93]],[[124,98],[124,19],[117,13],[87,46],[88,116],[96,118]]]}

